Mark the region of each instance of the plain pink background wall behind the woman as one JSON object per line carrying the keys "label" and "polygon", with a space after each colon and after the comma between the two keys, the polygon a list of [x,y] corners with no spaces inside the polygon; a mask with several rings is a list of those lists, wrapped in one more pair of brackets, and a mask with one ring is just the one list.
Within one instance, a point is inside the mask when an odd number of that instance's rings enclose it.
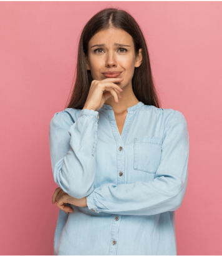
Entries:
{"label": "plain pink background wall behind the woman", "polygon": [[189,179],[176,210],[178,255],[220,255],[222,2],[0,2],[1,255],[52,255],[59,212],[49,122],[62,111],[81,29],[104,7],[147,39],[163,108],[183,113]]}

